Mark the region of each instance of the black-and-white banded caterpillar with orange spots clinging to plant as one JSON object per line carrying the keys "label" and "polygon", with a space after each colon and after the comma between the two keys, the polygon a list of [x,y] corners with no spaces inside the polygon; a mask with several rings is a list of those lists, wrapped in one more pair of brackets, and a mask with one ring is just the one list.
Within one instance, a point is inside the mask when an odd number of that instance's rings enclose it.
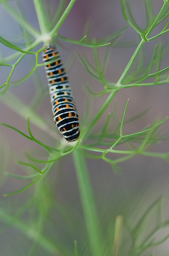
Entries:
{"label": "black-and-white banded caterpillar with orange spots clinging to plant", "polygon": [[52,63],[45,65],[53,120],[67,142],[73,142],[78,140],[80,135],[79,116],[60,53],[54,45],[50,44],[42,52],[42,59],[45,63],[53,58]]}

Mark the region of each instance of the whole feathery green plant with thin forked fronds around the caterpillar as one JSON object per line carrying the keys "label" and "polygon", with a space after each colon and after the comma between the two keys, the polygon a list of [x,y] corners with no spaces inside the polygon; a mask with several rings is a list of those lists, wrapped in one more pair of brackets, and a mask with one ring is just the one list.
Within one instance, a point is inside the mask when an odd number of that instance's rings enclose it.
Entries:
{"label": "whole feathery green plant with thin forked fronds around the caterpillar", "polygon": [[[47,15],[48,12],[45,10],[43,1],[33,0],[40,28],[40,30],[37,30],[26,20],[25,12],[21,7],[21,4],[18,4],[18,12],[10,4],[10,1],[0,1],[0,4],[5,8],[6,12],[8,12],[8,14],[18,23],[22,29],[22,39],[25,40],[25,44],[23,44],[23,47],[20,48],[6,40],[3,36],[0,36],[1,44],[4,44],[5,46],[12,49],[12,53],[10,55],[2,57],[0,60],[1,66],[11,67],[11,71],[8,78],[6,79],[6,82],[0,85],[0,96],[2,96],[0,100],[7,107],[11,108],[18,115],[27,120],[28,135],[12,126],[10,121],[8,124],[0,123],[0,125],[5,126],[6,130],[11,129],[14,130],[14,132],[18,132],[19,136],[25,137],[25,140],[28,139],[31,141],[31,143],[33,143],[33,145],[37,145],[38,148],[41,148],[41,150],[45,152],[45,156],[41,157],[36,157],[33,155],[33,153],[31,154],[29,152],[25,152],[24,156],[26,160],[16,161],[16,164],[18,164],[20,168],[23,168],[23,172],[26,172],[26,174],[24,173],[23,175],[18,175],[9,171],[5,172],[6,176],[20,180],[26,180],[28,183],[17,191],[5,193],[4,196],[18,194],[27,188],[30,188],[32,185],[36,185],[34,186],[35,191],[32,199],[28,200],[24,205],[22,205],[22,207],[20,207],[14,215],[7,213],[3,209],[0,210],[0,220],[2,220],[4,223],[4,226],[0,229],[0,234],[12,226],[19,230],[26,237],[33,240],[33,245],[28,255],[36,255],[36,251],[39,247],[42,247],[51,255],[82,255],[78,250],[78,241],[74,242],[74,252],[72,252],[60,241],[54,243],[52,239],[49,240],[42,232],[45,227],[45,221],[47,218],[46,216],[49,215],[53,206],[51,199],[53,198],[53,195],[50,186],[48,187],[45,183],[45,179],[41,179],[41,177],[47,177],[54,164],[59,164],[59,160],[63,159],[64,156],[72,153],[71,155],[74,160],[81,204],[83,208],[84,219],[86,221],[86,229],[90,245],[90,254],[88,255],[118,256],[122,255],[119,254],[119,252],[122,247],[121,245],[123,239],[123,217],[121,215],[116,217],[112,245],[107,247],[106,242],[102,242],[103,235],[99,225],[99,217],[95,206],[92,185],[88,175],[86,158],[102,159],[112,166],[114,172],[118,172],[120,170],[119,163],[125,162],[135,157],[136,155],[161,158],[166,162],[169,162],[169,152],[161,153],[150,150],[152,145],[157,144],[162,140],[166,140],[166,138],[168,139],[167,135],[162,136],[159,134],[161,125],[167,120],[167,117],[162,120],[156,118],[151,125],[145,126],[142,130],[139,130],[135,133],[125,134],[123,132],[123,127],[125,127],[125,124],[136,121],[137,118],[144,115],[143,112],[139,113],[135,117],[131,117],[130,120],[126,119],[125,116],[127,113],[127,108],[130,104],[129,100],[126,102],[123,116],[121,116],[120,119],[119,117],[116,118],[116,113],[109,113],[107,120],[102,125],[102,127],[100,127],[97,131],[94,131],[94,128],[99,126],[98,121],[105,114],[105,111],[112,103],[112,100],[119,92],[119,90],[128,87],[158,86],[169,83],[169,66],[163,69],[160,68],[162,57],[165,54],[165,47],[162,45],[162,43],[155,44],[151,59],[148,64],[144,65],[144,60],[142,59],[141,54],[144,44],[149,44],[150,41],[158,37],[162,38],[164,34],[169,33],[169,1],[164,0],[161,10],[159,10],[158,14],[154,16],[151,0],[145,0],[146,26],[143,29],[137,24],[129,3],[125,0],[121,0],[123,18],[128,23],[127,26],[115,32],[114,34],[104,36],[100,39],[91,38],[88,33],[87,35],[81,35],[81,38],[77,40],[58,34],[59,28],[67,18],[67,15],[71,11],[75,2],[76,0],[70,0],[69,4],[66,6],[66,1],[60,0],[58,8],[53,16],[53,20],[50,20],[51,18],[49,19]],[[162,22],[165,22],[162,31],[160,31],[155,36],[151,36],[152,31],[154,31],[154,29]],[[138,44],[134,41],[126,43],[120,42],[121,37],[124,36],[125,32],[129,28],[134,29],[137,33],[139,38]],[[70,145],[63,143],[62,139],[60,139],[61,137],[59,134],[57,134],[58,131],[55,129],[54,125],[52,126],[48,124],[47,121],[44,120],[36,111],[38,108],[37,105],[41,104],[41,99],[43,99],[48,93],[46,87],[42,88],[37,86],[37,88],[35,88],[36,93],[29,105],[23,103],[9,90],[12,87],[14,88],[21,85],[24,81],[34,75],[35,71],[37,71],[39,67],[46,64],[51,64],[55,60],[52,59],[46,63],[39,63],[41,52],[46,48],[46,45],[49,44],[49,42],[56,40],[56,38],[60,42],[67,42],[70,44],[92,48],[94,59],[93,62],[87,57],[83,57],[80,52],[77,53],[77,56],[78,60],[82,63],[89,76],[102,84],[102,89],[99,92],[95,92],[90,85],[87,85],[85,90],[88,95],[93,98],[98,98],[102,95],[107,97],[102,106],[100,106],[98,109],[95,116],[88,116],[84,118],[84,120],[82,118],[80,119],[80,137],[76,142],[68,143]],[[40,47],[39,45],[41,43],[45,44],[45,46]],[[123,47],[123,45],[126,47],[135,45],[136,50],[131,56],[127,66],[124,68],[118,81],[115,83],[105,78],[105,72],[109,64],[109,49],[107,48],[114,46]],[[39,50],[32,52],[33,49],[37,49],[38,47]],[[103,56],[102,60],[99,59],[100,47],[105,49],[105,55]],[[29,73],[27,73],[19,80],[11,82],[11,77],[14,74],[16,67],[27,54],[34,55],[35,61],[32,65],[33,68]],[[113,130],[111,127],[112,119],[116,123]],[[48,144],[46,145],[42,141],[38,140],[36,136],[33,135],[31,130],[32,124],[51,136],[55,140],[55,146],[53,147]],[[125,145],[127,149],[118,149],[117,146],[119,145]],[[144,212],[143,216],[140,218],[134,228],[126,227],[130,234],[132,243],[125,255],[142,255],[143,252],[147,252],[146,250],[164,243],[169,237],[169,234],[162,236],[162,238],[157,236],[157,233],[162,228],[168,227],[169,225],[169,220],[163,221],[162,218],[159,217],[161,216],[162,211],[161,202],[162,199],[159,198],[153,204],[151,204],[151,206]],[[29,209],[30,206],[35,207],[35,204],[37,204],[39,219],[37,220],[36,226],[29,226],[24,222],[24,220],[21,220],[20,217]],[[142,227],[146,226],[147,221],[151,220],[152,216],[155,216],[157,221],[155,224],[152,224],[153,228],[151,231],[148,231],[148,228],[144,229],[144,232],[147,230],[146,236],[144,236]],[[138,239],[138,236],[141,237],[141,239]],[[149,255],[153,254],[150,253]]]}

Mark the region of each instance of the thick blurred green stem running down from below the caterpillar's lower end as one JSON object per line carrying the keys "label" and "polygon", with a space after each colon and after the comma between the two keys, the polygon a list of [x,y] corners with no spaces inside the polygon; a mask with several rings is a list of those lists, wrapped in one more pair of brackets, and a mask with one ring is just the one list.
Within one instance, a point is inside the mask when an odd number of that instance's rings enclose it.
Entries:
{"label": "thick blurred green stem running down from below the caterpillar's lower end", "polygon": [[93,256],[102,256],[101,232],[83,150],[76,148],[73,156],[91,252]]}

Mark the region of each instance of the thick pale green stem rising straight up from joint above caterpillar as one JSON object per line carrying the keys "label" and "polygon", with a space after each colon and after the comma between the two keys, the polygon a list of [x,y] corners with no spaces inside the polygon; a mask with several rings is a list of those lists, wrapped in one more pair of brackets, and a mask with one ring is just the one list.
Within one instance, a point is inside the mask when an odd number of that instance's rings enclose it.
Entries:
{"label": "thick pale green stem rising straight up from joint above caterpillar", "polygon": [[42,35],[47,34],[49,31],[48,20],[46,18],[46,13],[43,8],[42,1],[41,0],[33,0],[33,3],[34,3],[36,14],[38,17],[41,34]]}

